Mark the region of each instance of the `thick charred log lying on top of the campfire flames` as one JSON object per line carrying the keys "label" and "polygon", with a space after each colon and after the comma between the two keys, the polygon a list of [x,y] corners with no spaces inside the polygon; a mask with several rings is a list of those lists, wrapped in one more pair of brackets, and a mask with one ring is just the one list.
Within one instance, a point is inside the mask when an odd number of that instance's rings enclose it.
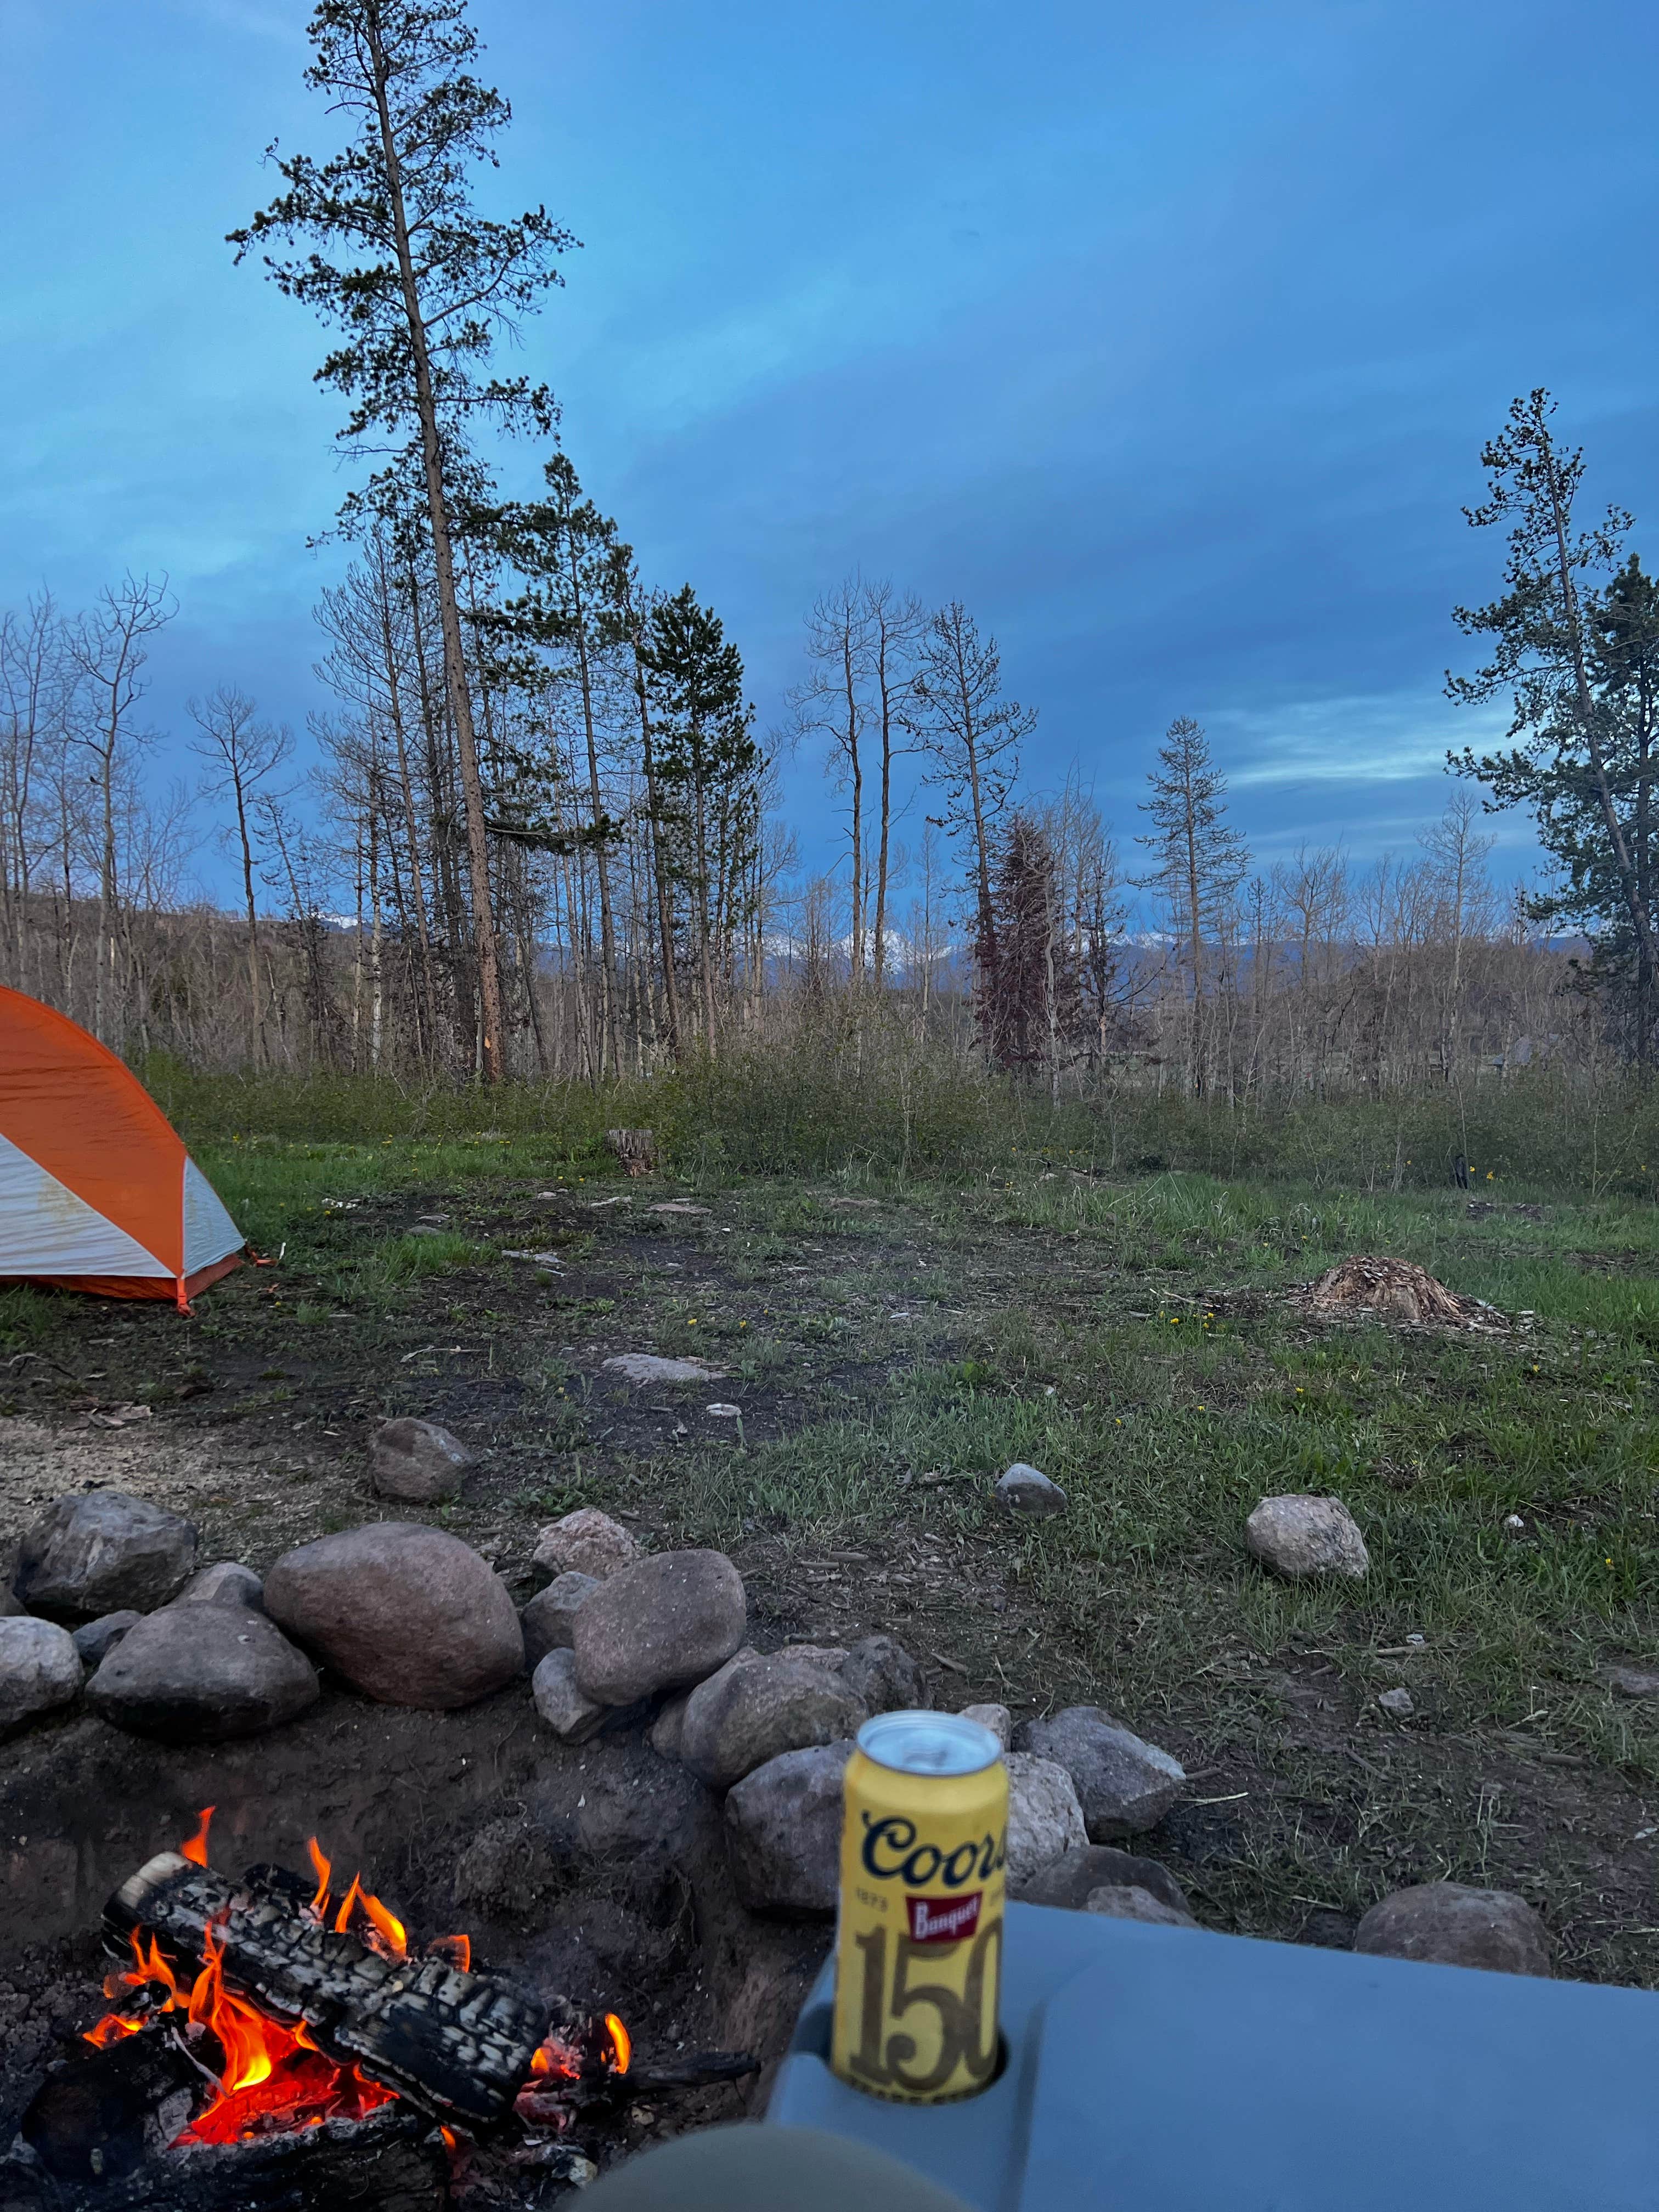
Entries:
{"label": "thick charred log lying on top of the campfire flames", "polygon": [[305,2046],[336,2066],[361,2068],[440,2119],[504,2119],[549,2015],[456,1964],[453,1951],[385,1955],[343,1933],[345,1909],[336,1931],[307,1907],[307,1885],[281,1867],[252,1867],[232,1882],[161,1851],[104,1907],[104,1944],[128,1958],[137,1933],[195,1966],[217,1960],[226,1989],[303,2028]]}

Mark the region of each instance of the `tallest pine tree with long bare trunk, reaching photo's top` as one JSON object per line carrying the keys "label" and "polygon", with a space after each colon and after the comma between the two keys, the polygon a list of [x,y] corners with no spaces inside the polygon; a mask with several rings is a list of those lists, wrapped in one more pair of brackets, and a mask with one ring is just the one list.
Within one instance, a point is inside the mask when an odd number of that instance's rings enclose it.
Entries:
{"label": "tallest pine tree with long bare trunk, reaching photo's top", "polygon": [[495,166],[495,135],[511,119],[502,95],[471,75],[478,33],[465,0],[319,0],[307,27],[305,84],[349,117],[349,144],[325,161],[270,157],[285,190],[230,232],[237,259],[272,241],[307,241],[290,259],[265,254],[272,281],[341,332],[316,372],[349,400],[341,438],[387,451],[352,518],[383,511],[400,484],[425,493],[442,630],[445,692],[460,754],[473,942],[482,1015],[482,1073],[502,1057],[500,953],[491,905],[484,792],[456,586],[456,500],[467,434],[489,418],[507,429],[551,429],[553,398],[529,378],[489,376],[489,356],[575,243],[546,212],[493,221],[471,199],[471,173]]}

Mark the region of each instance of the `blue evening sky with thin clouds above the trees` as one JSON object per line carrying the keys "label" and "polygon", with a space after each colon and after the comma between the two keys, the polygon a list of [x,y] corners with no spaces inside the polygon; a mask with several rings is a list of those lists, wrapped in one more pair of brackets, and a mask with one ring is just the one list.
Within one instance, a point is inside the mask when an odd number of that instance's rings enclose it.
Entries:
{"label": "blue evening sky with thin clouds above the trees", "polygon": [[[515,108],[500,199],[584,241],[524,363],[648,577],[723,613],[763,726],[863,566],[995,630],[1029,781],[1075,761],[1124,838],[1197,714],[1259,858],[1369,858],[1482,734],[1440,684],[1451,604],[1498,580],[1460,507],[1509,398],[1551,385],[1593,498],[1655,509],[1637,0],[473,13]],[[323,341],[221,243],[272,137],[332,144],[305,15],[0,0],[0,604],[166,568],[161,765],[192,690],[325,703]],[[827,854],[810,763],[787,790]]]}

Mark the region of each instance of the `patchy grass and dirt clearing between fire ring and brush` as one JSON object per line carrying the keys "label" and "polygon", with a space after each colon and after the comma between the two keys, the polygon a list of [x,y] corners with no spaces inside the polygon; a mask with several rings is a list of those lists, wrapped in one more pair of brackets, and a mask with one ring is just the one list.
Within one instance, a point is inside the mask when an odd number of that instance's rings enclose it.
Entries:
{"label": "patchy grass and dirt clearing between fire ring and brush", "polygon": [[[1188,1798],[1137,1847],[1210,1927],[1345,1944],[1387,1889],[1453,1876],[1528,1896],[1557,1971],[1652,1986],[1659,1747],[1597,1679],[1652,1648],[1648,1323],[1608,1352],[1604,1316],[1586,1354],[1568,1292],[1548,1312],[1551,1283],[1641,1290],[1648,1252],[1566,1210],[1303,1219],[1274,1197],[1228,1217],[1221,1188],[1177,1219],[1075,1177],[387,1192],[341,1170],[338,1194],[292,1203],[276,1265],[190,1318],[40,1301],[0,1363],[0,1542],[104,1484],[257,1568],[396,1513],[453,1528],[524,1599],[535,1531],[599,1504],[646,1546],[730,1551],[761,1646],[887,1630],[940,1705],[1091,1701],[1164,1743]],[[1542,1318],[1462,1345],[1325,1329],[1285,1296],[1385,1234]],[[723,1376],[604,1374],[641,1349]],[[372,1495],[367,1440],[394,1413],[482,1453],[453,1506]],[[995,1511],[1011,1458],[1068,1484],[1062,1520]],[[1356,1506],[1363,1588],[1285,1590],[1245,1559],[1243,1513],[1276,1489]],[[1617,1597],[1573,1579],[1613,1579],[1615,1555]],[[1387,1686],[1411,1721],[1378,1708]]]}

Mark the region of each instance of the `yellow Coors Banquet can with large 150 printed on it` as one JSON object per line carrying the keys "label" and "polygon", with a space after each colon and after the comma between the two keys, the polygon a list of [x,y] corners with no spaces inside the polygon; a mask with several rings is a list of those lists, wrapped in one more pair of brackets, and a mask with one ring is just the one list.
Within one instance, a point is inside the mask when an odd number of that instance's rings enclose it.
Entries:
{"label": "yellow Coors Banquet can with large 150 printed on it", "polygon": [[830,2066],[909,2104],[998,2064],[1009,1770],[989,1728],[883,1712],[847,1761]]}

